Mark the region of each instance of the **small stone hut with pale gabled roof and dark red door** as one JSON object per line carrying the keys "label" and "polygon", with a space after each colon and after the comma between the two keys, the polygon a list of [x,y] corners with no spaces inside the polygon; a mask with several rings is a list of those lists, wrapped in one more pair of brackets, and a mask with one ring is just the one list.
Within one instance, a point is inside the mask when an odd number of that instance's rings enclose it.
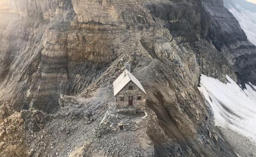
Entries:
{"label": "small stone hut with pale gabled roof and dark red door", "polygon": [[145,111],[146,91],[127,69],[113,82],[115,105],[117,109],[135,108]]}

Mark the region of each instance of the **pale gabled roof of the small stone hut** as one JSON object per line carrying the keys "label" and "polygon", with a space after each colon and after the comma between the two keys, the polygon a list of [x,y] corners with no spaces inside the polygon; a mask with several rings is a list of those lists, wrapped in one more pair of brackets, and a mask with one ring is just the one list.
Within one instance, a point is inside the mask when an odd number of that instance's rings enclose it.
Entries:
{"label": "pale gabled roof of the small stone hut", "polygon": [[128,70],[125,69],[123,73],[121,73],[121,75],[117,77],[117,80],[113,82],[114,96],[116,96],[117,93],[119,93],[119,91],[121,91],[123,87],[126,86],[126,84],[128,84],[130,81],[135,83],[146,94],[146,91],[140,84],[139,80],[137,80],[137,78],[135,78],[133,74],[131,74]]}

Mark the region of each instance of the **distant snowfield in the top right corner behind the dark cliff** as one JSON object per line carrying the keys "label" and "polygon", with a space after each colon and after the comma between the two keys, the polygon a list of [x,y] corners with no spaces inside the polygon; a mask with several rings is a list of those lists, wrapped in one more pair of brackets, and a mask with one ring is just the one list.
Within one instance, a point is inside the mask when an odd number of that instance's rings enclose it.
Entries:
{"label": "distant snowfield in the top right corner behind the dark cliff", "polygon": [[241,28],[245,31],[247,39],[256,45],[256,12],[246,10],[235,4],[235,8],[229,5],[229,11],[238,20]]}

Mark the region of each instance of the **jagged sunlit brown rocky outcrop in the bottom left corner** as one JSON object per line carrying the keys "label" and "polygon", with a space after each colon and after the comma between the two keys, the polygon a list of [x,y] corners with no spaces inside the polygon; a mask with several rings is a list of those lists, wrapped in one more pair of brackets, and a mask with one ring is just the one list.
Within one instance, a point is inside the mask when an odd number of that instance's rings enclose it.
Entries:
{"label": "jagged sunlit brown rocky outcrop in the bottom left corner", "polygon": [[0,151],[2,157],[27,156],[30,140],[36,138],[51,117],[41,111],[15,112],[0,124]]}

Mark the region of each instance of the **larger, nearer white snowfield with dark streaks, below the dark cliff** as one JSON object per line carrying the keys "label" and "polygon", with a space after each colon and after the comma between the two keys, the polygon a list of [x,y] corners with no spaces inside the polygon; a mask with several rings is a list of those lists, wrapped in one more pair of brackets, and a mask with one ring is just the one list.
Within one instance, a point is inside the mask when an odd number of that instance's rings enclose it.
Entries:
{"label": "larger, nearer white snowfield with dark streaks, below the dark cliff", "polygon": [[224,84],[201,75],[201,95],[212,108],[215,125],[231,129],[256,142],[256,86],[242,90],[228,75]]}

